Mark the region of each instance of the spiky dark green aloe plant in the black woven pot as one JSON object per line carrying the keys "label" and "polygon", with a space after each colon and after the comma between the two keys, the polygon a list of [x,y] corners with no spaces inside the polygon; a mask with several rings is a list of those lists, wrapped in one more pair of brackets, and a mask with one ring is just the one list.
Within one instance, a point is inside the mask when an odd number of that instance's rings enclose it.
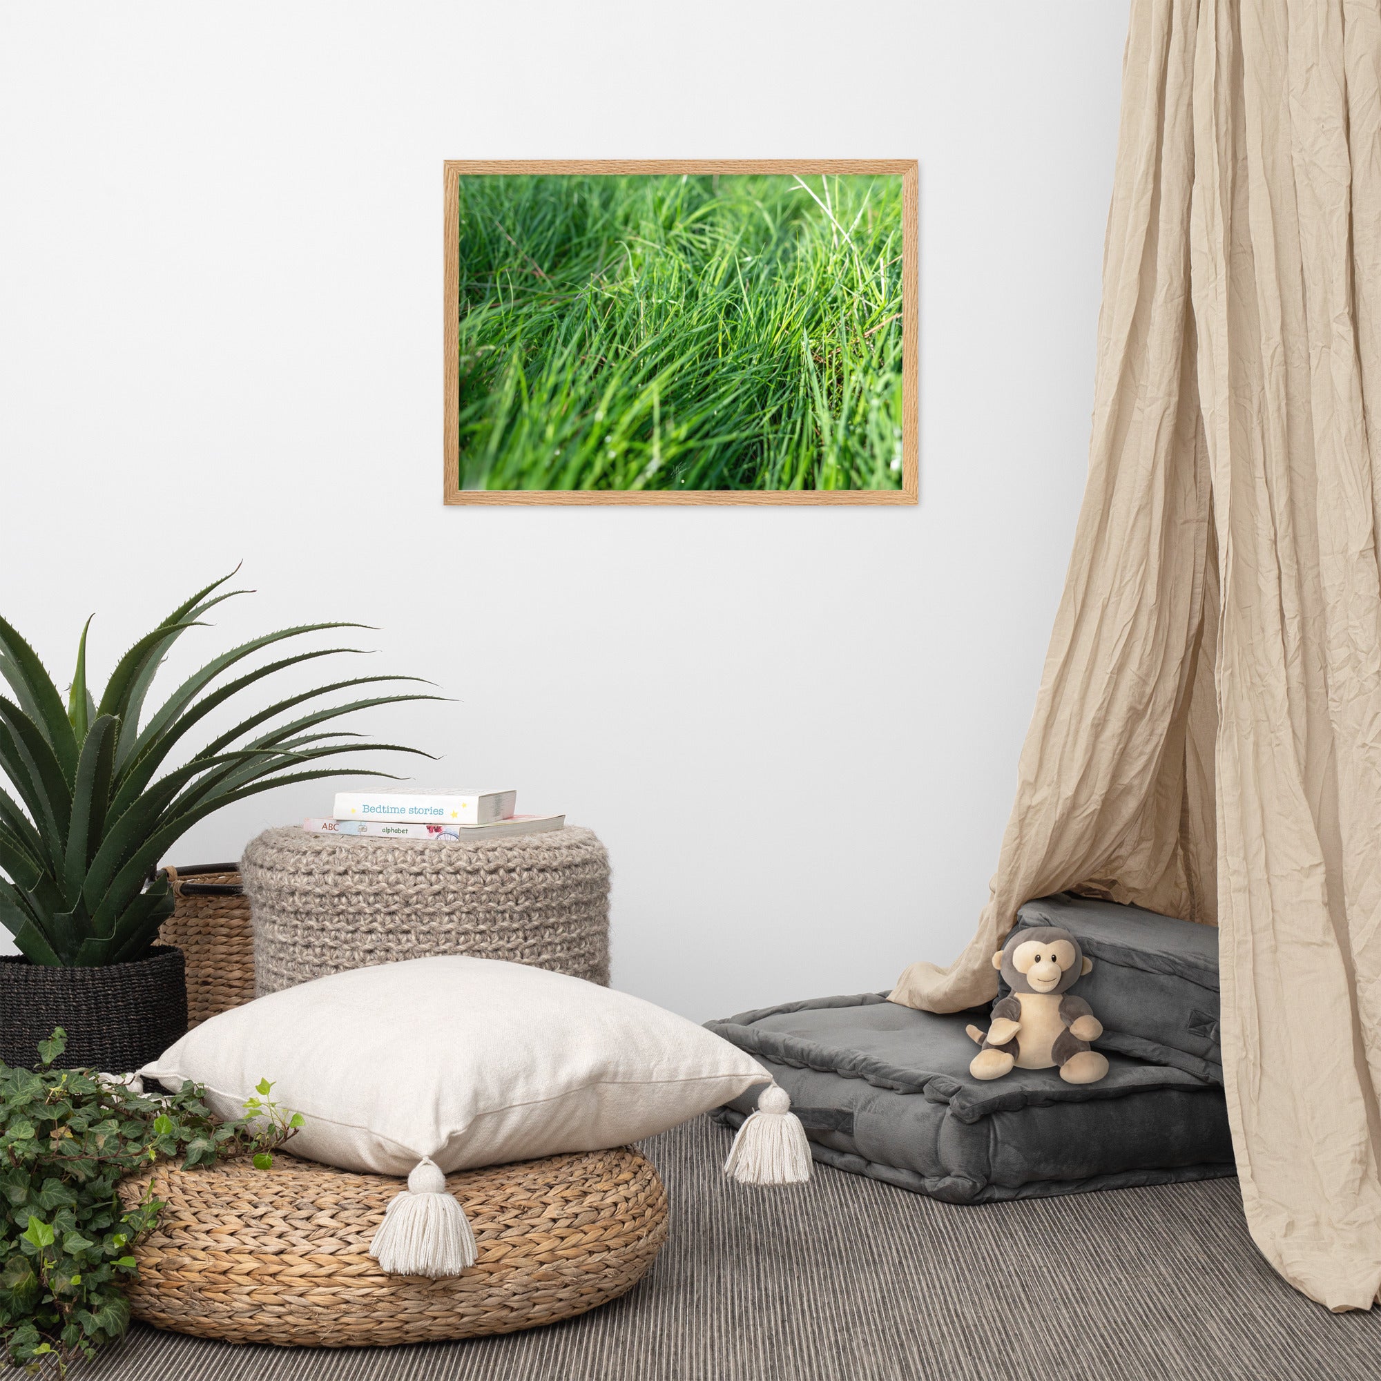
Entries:
{"label": "spiky dark green aloe plant in the black woven pot", "polygon": [[0,678],[14,693],[14,700],[0,695],[0,772],[10,784],[10,790],[0,787],[0,871],[8,876],[8,881],[0,877],[0,923],[35,964],[79,967],[139,958],[173,914],[171,888],[156,865],[213,811],[289,782],[392,776],[355,765],[304,768],[322,758],[362,747],[420,751],[395,743],[362,744],[358,733],[323,728],[370,706],[441,699],[409,690],[319,703],[356,686],[420,679],[371,675],[278,700],[217,733],[180,765],[167,766],[175,749],[185,751],[188,733],[240,692],[300,663],[363,650],[294,650],[224,679],[264,648],[365,624],[282,628],[222,652],[146,713],[151,685],[173,644],[188,628],[202,627],[202,616],[213,606],[249,594],[222,590],[232,577],[233,572],[207,586],[139,638],[99,700],[86,678],[90,619],[81,630],[66,704],[29,644],[0,619]]}

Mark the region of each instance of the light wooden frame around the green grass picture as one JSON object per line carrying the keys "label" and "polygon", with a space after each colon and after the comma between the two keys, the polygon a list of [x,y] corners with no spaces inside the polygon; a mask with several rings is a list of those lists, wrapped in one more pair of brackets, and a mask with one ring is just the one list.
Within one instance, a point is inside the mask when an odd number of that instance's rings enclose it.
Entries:
{"label": "light wooden frame around the green grass picture", "polygon": [[[475,174],[874,174],[902,178],[902,483],[898,489],[615,490],[460,487],[460,180]],[[917,181],[914,159],[447,160],[445,164],[443,501],[446,504],[916,504],[918,493]]]}

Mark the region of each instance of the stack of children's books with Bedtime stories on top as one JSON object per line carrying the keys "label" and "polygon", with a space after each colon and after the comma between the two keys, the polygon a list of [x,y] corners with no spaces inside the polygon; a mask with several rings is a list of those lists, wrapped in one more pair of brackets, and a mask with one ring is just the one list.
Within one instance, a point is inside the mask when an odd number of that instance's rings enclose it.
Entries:
{"label": "stack of children's books with Bedtime stories on top", "polygon": [[330,819],[302,822],[312,834],[395,840],[487,840],[559,830],[563,815],[515,815],[516,791],[338,791]]}

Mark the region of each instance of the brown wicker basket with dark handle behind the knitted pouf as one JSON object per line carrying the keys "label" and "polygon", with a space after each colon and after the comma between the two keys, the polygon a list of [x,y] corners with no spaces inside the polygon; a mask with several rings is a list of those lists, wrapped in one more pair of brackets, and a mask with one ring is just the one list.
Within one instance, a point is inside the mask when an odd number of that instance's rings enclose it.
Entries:
{"label": "brown wicker basket with dark handle behind the knitted pouf", "polygon": [[[254,927],[235,863],[166,867],[177,910],[159,939],[186,957],[188,1029],[254,998]],[[188,881],[195,878],[196,881]]]}

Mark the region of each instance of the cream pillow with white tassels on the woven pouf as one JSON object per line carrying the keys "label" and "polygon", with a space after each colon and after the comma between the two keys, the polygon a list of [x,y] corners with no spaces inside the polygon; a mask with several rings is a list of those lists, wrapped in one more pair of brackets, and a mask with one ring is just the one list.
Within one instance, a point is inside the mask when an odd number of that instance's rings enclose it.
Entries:
{"label": "cream pillow with white tassels on the woven pouf", "polygon": [[[420,1275],[474,1261],[446,1174],[621,1146],[772,1081],[736,1045],[639,997],[463,956],[271,993],[203,1022],[139,1073],[204,1084],[222,1117],[243,1116],[269,1079],[278,1105],[305,1119],[284,1149],[409,1175],[412,1193],[389,1204],[371,1250],[385,1271]],[[728,1168],[744,1182],[797,1182],[809,1174],[805,1135],[780,1090],[768,1092],[778,1097],[747,1142],[740,1132]]]}

